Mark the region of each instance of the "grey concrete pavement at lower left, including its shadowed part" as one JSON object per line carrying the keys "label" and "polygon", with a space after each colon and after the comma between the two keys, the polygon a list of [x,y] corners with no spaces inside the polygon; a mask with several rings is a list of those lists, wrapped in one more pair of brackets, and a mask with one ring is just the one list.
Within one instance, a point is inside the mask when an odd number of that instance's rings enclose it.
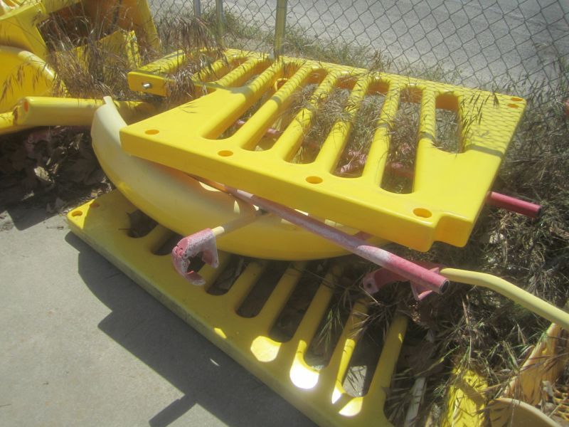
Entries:
{"label": "grey concrete pavement at lower left, including its shadowed part", "polygon": [[0,214],[1,426],[312,426],[75,237]]}

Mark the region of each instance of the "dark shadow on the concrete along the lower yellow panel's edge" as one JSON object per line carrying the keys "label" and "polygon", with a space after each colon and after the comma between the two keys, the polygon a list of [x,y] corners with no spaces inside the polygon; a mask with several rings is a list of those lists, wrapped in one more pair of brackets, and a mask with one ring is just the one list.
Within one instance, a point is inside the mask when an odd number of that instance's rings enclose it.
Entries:
{"label": "dark shadow on the concrete along the lower yellow panel's edge", "polygon": [[169,426],[196,404],[229,426],[314,426],[80,238],[65,240],[79,252],[87,287],[112,310],[100,330],[184,393],[151,427]]}

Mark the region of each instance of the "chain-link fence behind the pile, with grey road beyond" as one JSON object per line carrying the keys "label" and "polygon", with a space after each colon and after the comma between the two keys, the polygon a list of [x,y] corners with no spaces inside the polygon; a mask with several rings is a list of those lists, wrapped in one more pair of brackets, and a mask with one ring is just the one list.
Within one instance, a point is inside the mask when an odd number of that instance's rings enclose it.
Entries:
{"label": "chain-link fence behind the pile, with grey road beyond", "polygon": [[[197,11],[223,24],[226,46],[272,52],[277,0],[150,6],[158,21]],[[565,0],[289,0],[286,19],[289,55],[518,95],[569,79]]]}

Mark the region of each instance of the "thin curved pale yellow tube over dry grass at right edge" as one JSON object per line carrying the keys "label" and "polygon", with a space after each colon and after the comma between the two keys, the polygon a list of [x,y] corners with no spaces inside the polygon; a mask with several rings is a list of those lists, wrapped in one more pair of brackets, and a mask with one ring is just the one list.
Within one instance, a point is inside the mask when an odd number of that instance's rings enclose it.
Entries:
{"label": "thin curved pale yellow tube over dry grass at right edge", "polygon": [[531,295],[531,293],[518,288],[507,280],[487,273],[458,270],[457,268],[443,268],[440,274],[453,282],[467,283],[467,285],[482,286],[482,288],[494,290],[494,292],[526,307],[531,312],[536,313],[536,315],[540,315],[560,325],[564,330],[569,331],[569,313],[551,305],[549,302],[543,301],[536,295]]}

